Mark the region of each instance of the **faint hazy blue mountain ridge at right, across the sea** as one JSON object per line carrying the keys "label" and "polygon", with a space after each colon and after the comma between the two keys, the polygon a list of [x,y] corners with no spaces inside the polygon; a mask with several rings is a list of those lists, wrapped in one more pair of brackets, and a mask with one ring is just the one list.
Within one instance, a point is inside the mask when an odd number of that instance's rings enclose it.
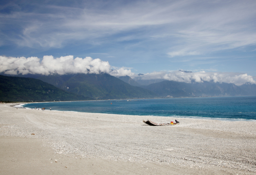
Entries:
{"label": "faint hazy blue mountain ridge at right, across the sea", "polygon": [[256,95],[256,85],[236,86],[232,83],[183,83],[163,81],[148,86],[141,86],[158,94],[160,97],[213,97]]}

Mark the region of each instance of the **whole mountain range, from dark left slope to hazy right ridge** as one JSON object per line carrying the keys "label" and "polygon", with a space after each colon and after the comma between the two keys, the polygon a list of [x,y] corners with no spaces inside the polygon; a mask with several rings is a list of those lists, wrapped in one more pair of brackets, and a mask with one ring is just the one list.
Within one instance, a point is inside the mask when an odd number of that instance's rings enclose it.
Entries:
{"label": "whole mountain range, from dark left slope to hazy right ridge", "polygon": [[[17,76],[12,78],[0,76],[0,100],[53,101],[53,99],[58,99],[65,101],[256,95],[255,84],[236,86],[232,83],[183,83],[162,79],[134,80],[129,76],[117,78],[107,73],[18,76],[23,76],[23,79]],[[26,80],[24,77],[33,78]],[[18,79],[15,80],[15,78]],[[32,90],[33,93],[30,93],[28,89],[36,89],[36,91]],[[56,93],[53,94],[53,91]]]}

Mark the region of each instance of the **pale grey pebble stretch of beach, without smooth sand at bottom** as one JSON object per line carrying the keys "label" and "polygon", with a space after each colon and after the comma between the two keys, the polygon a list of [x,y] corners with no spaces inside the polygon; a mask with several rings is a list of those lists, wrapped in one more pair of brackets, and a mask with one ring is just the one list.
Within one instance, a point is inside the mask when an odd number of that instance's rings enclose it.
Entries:
{"label": "pale grey pebble stretch of beach, without smooth sand at bottom", "polygon": [[1,136],[41,138],[58,154],[192,168],[214,165],[256,173],[256,122],[171,118],[181,124],[154,127],[145,125],[143,119],[165,123],[170,118],[59,111],[38,114],[27,109],[17,115],[5,108],[0,107]]}

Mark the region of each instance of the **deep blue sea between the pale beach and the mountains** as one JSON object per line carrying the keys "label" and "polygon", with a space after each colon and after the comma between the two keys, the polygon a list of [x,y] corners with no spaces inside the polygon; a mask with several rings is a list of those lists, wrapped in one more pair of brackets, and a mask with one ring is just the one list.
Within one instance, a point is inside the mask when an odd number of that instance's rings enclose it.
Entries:
{"label": "deep blue sea between the pale beach and the mountains", "polygon": [[106,114],[256,120],[256,97],[252,96],[33,103],[24,107]]}

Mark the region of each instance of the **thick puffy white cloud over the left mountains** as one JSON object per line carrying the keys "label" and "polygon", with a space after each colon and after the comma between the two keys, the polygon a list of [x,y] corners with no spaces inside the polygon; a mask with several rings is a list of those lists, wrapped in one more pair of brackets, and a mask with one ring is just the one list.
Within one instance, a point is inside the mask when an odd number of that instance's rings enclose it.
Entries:
{"label": "thick puffy white cloud over the left mountains", "polygon": [[73,58],[72,55],[54,58],[44,56],[42,60],[37,57],[6,57],[0,56],[0,72],[5,74],[68,74],[68,73],[100,73],[110,72],[110,64],[100,59]]}

